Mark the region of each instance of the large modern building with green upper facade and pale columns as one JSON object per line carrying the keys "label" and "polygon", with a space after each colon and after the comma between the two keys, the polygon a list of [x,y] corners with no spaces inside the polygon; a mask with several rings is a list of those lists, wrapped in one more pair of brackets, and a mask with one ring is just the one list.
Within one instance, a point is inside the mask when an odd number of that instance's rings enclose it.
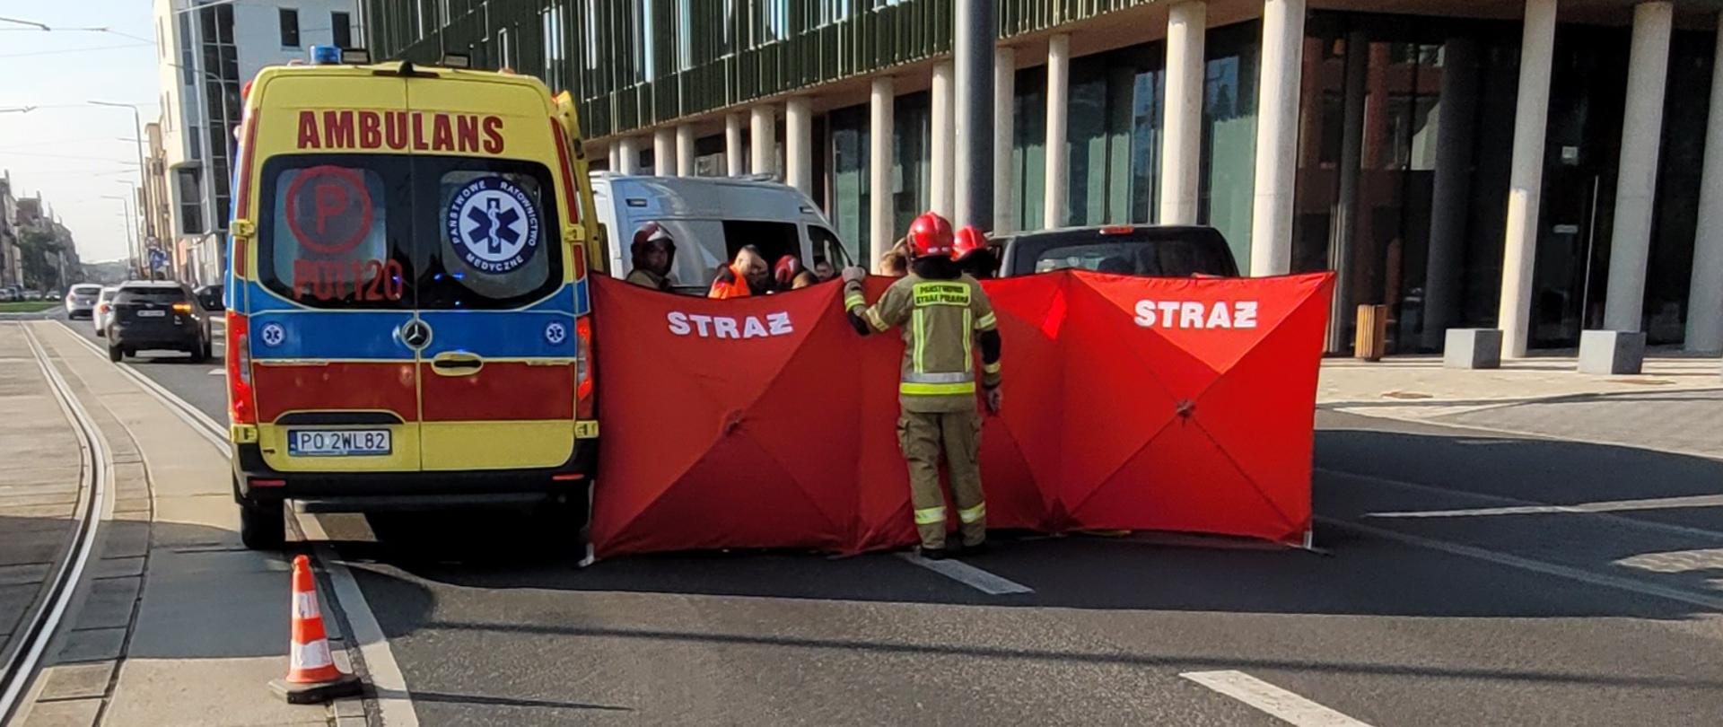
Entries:
{"label": "large modern building with green upper facade and pale columns", "polygon": [[1723,350],[1713,0],[998,0],[987,100],[972,0],[362,5],[376,55],[570,90],[594,167],[782,176],[856,260],[991,169],[996,231],[1204,222],[1251,274],[1337,270],[1335,350],[1358,305],[1396,351]]}

